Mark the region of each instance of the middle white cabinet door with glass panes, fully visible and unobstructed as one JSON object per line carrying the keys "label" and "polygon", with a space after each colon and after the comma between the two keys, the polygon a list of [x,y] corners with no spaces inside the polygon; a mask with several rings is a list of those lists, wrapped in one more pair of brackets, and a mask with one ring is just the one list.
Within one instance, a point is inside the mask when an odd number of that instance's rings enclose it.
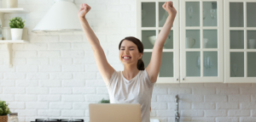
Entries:
{"label": "middle white cabinet door with glass panes, fully visible and unobstructed", "polygon": [[181,0],[181,82],[224,82],[223,0]]}

